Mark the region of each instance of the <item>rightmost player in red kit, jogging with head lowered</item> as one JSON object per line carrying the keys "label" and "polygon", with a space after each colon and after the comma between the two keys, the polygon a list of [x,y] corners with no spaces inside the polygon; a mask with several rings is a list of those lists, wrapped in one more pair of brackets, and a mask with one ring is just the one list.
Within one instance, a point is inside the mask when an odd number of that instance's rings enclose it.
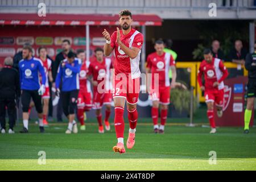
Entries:
{"label": "rightmost player in red kit, jogging with head lowered", "polygon": [[[205,84],[203,85],[202,76]],[[200,63],[197,80],[200,88],[204,91],[205,102],[207,103],[207,116],[210,122],[211,134],[216,133],[214,121],[214,102],[217,106],[218,117],[222,117],[222,106],[224,101],[224,80],[228,77],[228,70],[220,59],[214,58],[210,49],[204,50],[204,60]]]}

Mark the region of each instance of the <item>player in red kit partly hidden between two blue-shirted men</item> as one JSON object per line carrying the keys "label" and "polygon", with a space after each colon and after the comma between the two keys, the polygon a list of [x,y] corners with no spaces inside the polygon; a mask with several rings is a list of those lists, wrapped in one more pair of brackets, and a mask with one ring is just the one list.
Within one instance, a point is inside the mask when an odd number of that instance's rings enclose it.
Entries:
{"label": "player in red kit partly hidden between two blue-shirted men", "polygon": [[50,98],[50,90],[49,90],[49,81],[52,82],[52,70],[51,70],[51,65],[52,61],[47,58],[47,50],[45,47],[39,47],[38,49],[39,53],[39,59],[43,63],[44,67],[44,72],[46,73],[46,92],[42,95],[43,98],[43,123],[44,125],[48,125],[47,122],[47,115],[48,115],[48,110],[49,110],[49,98]]}

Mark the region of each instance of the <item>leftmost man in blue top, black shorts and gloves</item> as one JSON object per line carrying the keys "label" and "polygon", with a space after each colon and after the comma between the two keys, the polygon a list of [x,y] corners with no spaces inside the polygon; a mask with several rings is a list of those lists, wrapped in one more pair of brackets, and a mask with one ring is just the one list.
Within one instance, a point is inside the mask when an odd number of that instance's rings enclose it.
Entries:
{"label": "leftmost man in blue top, black shorts and gloves", "polygon": [[[46,90],[46,74],[40,59],[32,56],[32,48],[25,46],[22,49],[23,59],[19,62],[20,88],[22,90],[23,130],[20,133],[28,133],[28,107],[30,100],[34,101],[39,118],[40,133],[44,133],[43,107],[41,96]],[[39,80],[39,72],[42,76],[42,85]]]}

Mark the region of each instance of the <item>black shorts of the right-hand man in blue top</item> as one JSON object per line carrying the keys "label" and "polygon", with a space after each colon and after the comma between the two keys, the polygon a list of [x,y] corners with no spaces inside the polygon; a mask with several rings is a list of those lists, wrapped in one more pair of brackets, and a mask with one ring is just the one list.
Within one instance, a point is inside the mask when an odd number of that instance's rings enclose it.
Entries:
{"label": "black shorts of the right-hand man in blue top", "polygon": [[69,114],[75,114],[78,94],[79,90],[61,92],[60,96],[62,100],[63,112],[66,117],[68,117]]}

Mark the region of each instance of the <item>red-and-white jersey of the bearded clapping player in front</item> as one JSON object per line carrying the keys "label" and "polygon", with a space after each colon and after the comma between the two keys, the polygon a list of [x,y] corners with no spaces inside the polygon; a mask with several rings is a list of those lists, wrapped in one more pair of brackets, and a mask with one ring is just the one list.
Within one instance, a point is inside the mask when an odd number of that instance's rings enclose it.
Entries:
{"label": "red-and-white jersey of the bearded clapping player in front", "polygon": [[[122,30],[120,30],[121,41],[125,46],[137,47],[139,49],[142,48],[143,44],[143,35],[131,28],[131,31],[127,35],[123,35]],[[139,59],[141,55],[141,51],[139,51],[137,57],[131,59],[126,53],[120,48],[117,40],[117,31],[115,31],[111,36],[111,43],[110,46],[115,49],[115,61],[114,61],[114,68],[115,68],[115,75],[119,73],[125,73],[126,76],[131,75],[131,78],[138,78],[141,76],[141,71],[139,70]]]}

